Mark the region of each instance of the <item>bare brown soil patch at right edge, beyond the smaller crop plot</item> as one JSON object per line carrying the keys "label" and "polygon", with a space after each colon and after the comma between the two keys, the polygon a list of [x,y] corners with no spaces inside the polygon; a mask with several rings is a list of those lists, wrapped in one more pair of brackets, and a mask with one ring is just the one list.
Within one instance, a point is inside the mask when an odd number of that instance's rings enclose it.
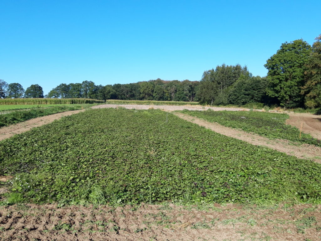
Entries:
{"label": "bare brown soil patch at right edge, beyond the smaller crop plot", "polygon": [[301,128],[302,132],[309,133],[314,138],[321,140],[321,116],[308,113],[291,113],[286,123],[296,128]]}

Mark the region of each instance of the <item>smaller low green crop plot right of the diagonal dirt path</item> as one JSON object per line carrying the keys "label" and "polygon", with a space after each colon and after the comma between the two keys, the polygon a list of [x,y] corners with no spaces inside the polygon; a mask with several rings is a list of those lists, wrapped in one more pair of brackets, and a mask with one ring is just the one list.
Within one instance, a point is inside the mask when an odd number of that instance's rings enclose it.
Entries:
{"label": "smaller low green crop plot right of the diagonal dirt path", "polygon": [[178,111],[223,126],[242,129],[270,139],[286,139],[298,143],[308,143],[321,147],[321,141],[309,134],[301,133],[296,127],[286,125],[288,114],[253,111]]}

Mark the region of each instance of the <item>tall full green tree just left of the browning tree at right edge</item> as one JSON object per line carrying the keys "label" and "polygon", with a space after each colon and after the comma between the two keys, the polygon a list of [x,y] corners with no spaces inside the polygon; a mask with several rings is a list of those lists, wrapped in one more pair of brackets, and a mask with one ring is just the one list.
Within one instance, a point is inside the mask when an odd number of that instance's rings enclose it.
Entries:
{"label": "tall full green tree just left of the browning tree at right edge", "polygon": [[303,106],[304,72],[311,53],[311,46],[302,39],[285,42],[264,65],[267,68],[267,89],[270,97],[276,97],[287,108]]}

